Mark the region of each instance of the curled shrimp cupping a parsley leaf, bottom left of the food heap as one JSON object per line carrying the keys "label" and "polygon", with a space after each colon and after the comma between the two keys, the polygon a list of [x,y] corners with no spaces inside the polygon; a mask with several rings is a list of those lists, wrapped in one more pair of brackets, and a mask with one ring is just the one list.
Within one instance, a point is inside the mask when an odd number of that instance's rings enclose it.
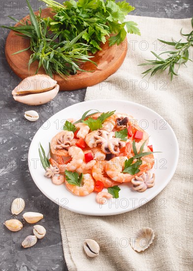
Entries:
{"label": "curled shrimp cupping a parsley leaf, bottom left of the food heap", "polygon": [[65,185],[68,190],[77,196],[87,196],[94,191],[95,182],[91,174],[83,174],[82,186],[69,184],[65,180]]}

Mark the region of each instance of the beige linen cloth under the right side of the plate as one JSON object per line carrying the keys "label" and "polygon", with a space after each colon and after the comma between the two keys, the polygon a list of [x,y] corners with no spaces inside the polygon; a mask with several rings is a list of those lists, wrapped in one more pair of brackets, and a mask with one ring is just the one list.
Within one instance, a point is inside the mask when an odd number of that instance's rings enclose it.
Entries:
{"label": "beige linen cloth under the right side of the plate", "polygon": [[[183,33],[190,33],[191,19],[128,16],[128,20],[138,23],[141,36],[128,35],[129,50],[123,65],[105,82],[89,87],[85,100],[128,100],[155,110],[177,136],[178,167],[156,198],[128,213],[97,217],[60,207],[65,261],[69,271],[192,271],[193,66],[189,62],[188,68],[180,68],[180,75],[172,83],[167,72],[150,80],[142,79],[141,72],[147,68],[137,66],[144,59],[155,59],[150,51],[159,54],[169,48],[162,47],[157,38],[179,40],[181,28]],[[131,80],[136,80],[135,85]],[[147,250],[138,253],[127,240],[141,227],[151,227],[156,237]],[[85,255],[85,238],[99,243],[100,254],[96,258]]]}

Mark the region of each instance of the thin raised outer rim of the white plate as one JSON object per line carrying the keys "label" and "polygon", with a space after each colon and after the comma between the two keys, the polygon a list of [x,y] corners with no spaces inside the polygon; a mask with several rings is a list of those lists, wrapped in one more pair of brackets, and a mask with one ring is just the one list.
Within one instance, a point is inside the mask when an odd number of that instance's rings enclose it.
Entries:
{"label": "thin raised outer rim of the white plate", "polygon": [[[156,114],[157,116],[159,116],[161,119],[164,119],[164,118],[161,117],[161,115],[158,114],[156,111],[154,111],[153,109],[151,109],[151,108],[149,108],[149,107],[147,107],[147,106],[145,106],[145,105],[142,105],[142,104],[136,103],[136,102],[124,101],[124,100],[120,100],[120,99],[119,99],[119,100],[115,100],[115,99],[96,99],[96,100],[89,100],[89,101],[77,102],[77,103],[74,103],[74,104],[72,104],[72,105],[69,105],[69,106],[67,106],[67,107],[65,107],[65,108],[63,108],[63,109],[61,109],[60,111],[58,111],[58,112],[55,113],[54,115],[59,114],[61,111],[63,111],[64,109],[66,109],[66,108],[68,108],[68,107],[75,107],[77,104],[82,104],[82,103],[87,103],[87,102],[89,103],[89,102],[94,102],[94,101],[95,101],[95,102],[101,102],[101,101],[103,101],[103,102],[109,102],[109,101],[112,101],[112,102],[126,102],[126,103],[128,102],[128,103],[131,103],[131,104],[133,104],[133,105],[137,105],[137,106],[139,106],[139,107],[142,107],[142,108],[144,108],[144,109],[148,109],[148,110],[150,110],[152,113],[154,113],[154,114]],[[52,115],[50,118],[52,118],[54,115]],[[45,122],[49,121],[50,118],[48,118]],[[45,123],[45,122],[44,122],[44,123]],[[51,199],[50,196],[48,196],[48,194],[47,194],[45,191],[42,191],[43,189],[41,189],[41,188],[39,187],[38,182],[35,181],[35,177],[34,177],[34,174],[33,174],[33,170],[32,170],[32,168],[30,167],[30,161],[31,161],[31,160],[30,160],[30,159],[31,159],[30,156],[31,156],[32,143],[33,143],[34,137],[36,136],[36,134],[38,133],[38,131],[43,127],[44,123],[40,126],[40,128],[36,131],[35,135],[34,135],[33,138],[32,138],[32,141],[31,141],[31,144],[30,144],[30,148],[29,148],[29,152],[28,152],[28,167],[29,167],[29,170],[30,170],[30,174],[31,174],[31,176],[32,176],[32,180],[34,181],[34,183],[35,183],[35,185],[37,186],[37,188],[38,188],[38,189],[42,192],[42,194],[45,195],[48,199],[50,199],[52,202],[56,203],[53,199]],[[144,205],[144,204],[146,204],[146,203],[149,203],[152,199],[154,199],[155,197],[157,197],[158,194],[160,194],[161,191],[167,186],[167,184],[168,184],[168,183],[170,182],[170,180],[172,179],[172,177],[173,177],[173,175],[174,175],[174,173],[175,173],[175,171],[176,171],[176,169],[177,169],[177,165],[178,165],[178,160],[179,160],[179,144],[178,144],[178,140],[177,140],[177,137],[176,137],[176,135],[175,135],[175,133],[174,133],[172,127],[169,125],[168,122],[167,122],[166,124],[167,124],[168,128],[170,129],[170,132],[173,134],[173,137],[174,137],[174,139],[175,139],[175,145],[176,145],[176,147],[177,147],[177,148],[176,148],[177,155],[175,156],[174,166],[173,166],[173,169],[171,170],[170,174],[169,174],[168,177],[167,177],[167,181],[164,182],[164,183],[159,187],[159,189],[153,194],[153,196],[148,197],[148,202],[144,202],[144,203],[141,203],[140,205],[134,206],[131,210],[128,210],[128,209],[126,208],[126,209],[123,209],[122,211],[120,211],[120,210],[116,211],[116,210],[115,210],[113,213],[105,212],[105,213],[102,213],[102,214],[99,213],[99,212],[91,213],[90,211],[84,211],[84,210],[81,211],[81,212],[79,212],[79,211],[77,211],[77,210],[75,210],[75,209],[73,209],[73,208],[70,208],[70,207],[67,207],[67,208],[63,207],[63,206],[62,206],[62,203],[60,204],[60,202],[58,202],[58,203],[56,203],[56,204],[58,204],[60,207],[66,209],[66,210],[69,210],[69,211],[72,211],[72,212],[75,212],[75,213],[79,213],[79,214],[93,215],[93,216],[108,216],[108,215],[118,215],[118,214],[126,213],[126,212],[129,212],[129,211],[135,210],[135,209],[141,207],[142,205]]]}

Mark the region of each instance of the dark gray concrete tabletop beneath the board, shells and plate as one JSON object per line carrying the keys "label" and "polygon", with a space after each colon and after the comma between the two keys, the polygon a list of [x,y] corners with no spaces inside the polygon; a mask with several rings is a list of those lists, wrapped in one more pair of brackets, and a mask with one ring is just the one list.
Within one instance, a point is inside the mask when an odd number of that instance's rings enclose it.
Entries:
{"label": "dark gray concrete tabletop beneath the board, shells and plate", "polygon": [[[62,1],[60,1],[62,2]],[[163,18],[190,18],[193,15],[192,0],[130,0],[135,6],[131,14]],[[32,1],[37,10],[41,4]],[[45,7],[45,5],[42,5]],[[25,1],[0,0],[0,25],[9,25],[8,15],[17,19],[28,14]],[[0,235],[0,270],[1,271],[66,271],[63,254],[58,205],[48,200],[36,187],[28,169],[28,150],[41,124],[61,109],[83,102],[86,90],[60,92],[54,101],[41,106],[28,106],[15,102],[11,91],[21,81],[9,68],[4,44],[8,30],[0,29],[0,107],[1,107],[1,235]],[[30,123],[24,119],[24,112],[36,110],[40,119]],[[24,230],[12,233],[5,228],[3,221],[13,218],[10,211],[14,198],[23,198],[25,211],[37,211],[45,215],[39,224],[45,226],[47,235],[35,247],[23,249],[21,241],[32,234],[32,226],[24,223]],[[22,219],[22,214],[17,216]]]}

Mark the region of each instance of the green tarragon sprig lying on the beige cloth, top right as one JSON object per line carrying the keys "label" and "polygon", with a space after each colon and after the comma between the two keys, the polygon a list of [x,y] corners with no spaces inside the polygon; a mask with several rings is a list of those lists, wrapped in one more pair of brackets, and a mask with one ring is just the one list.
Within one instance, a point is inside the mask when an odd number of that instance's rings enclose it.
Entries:
{"label": "green tarragon sprig lying on the beige cloth, top right", "polygon": [[[193,19],[192,19],[192,27],[193,27]],[[181,34],[182,34],[182,30],[181,30]],[[152,68],[149,68],[146,71],[142,72],[144,76],[146,76],[147,74],[150,74],[150,76],[153,76],[157,72],[163,72],[164,70],[169,68],[168,74],[170,74],[170,79],[172,81],[173,75],[178,75],[178,70],[181,64],[184,64],[186,66],[185,63],[188,60],[192,61],[191,59],[189,59],[189,48],[193,46],[193,31],[191,31],[191,33],[189,34],[182,34],[182,35],[186,36],[187,42],[181,42],[181,39],[179,41],[175,41],[174,39],[172,39],[173,40],[172,42],[158,39],[162,43],[174,46],[175,50],[166,51],[159,55],[151,51],[151,53],[156,57],[156,60],[146,60],[147,63],[142,63],[138,65],[138,66],[152,66]],[[161,55],[163,54],[168,54],[167,55],[168,58],[163,59],[161,57]],[[176,64],[178,64],[177,71],[174,70]]]}

